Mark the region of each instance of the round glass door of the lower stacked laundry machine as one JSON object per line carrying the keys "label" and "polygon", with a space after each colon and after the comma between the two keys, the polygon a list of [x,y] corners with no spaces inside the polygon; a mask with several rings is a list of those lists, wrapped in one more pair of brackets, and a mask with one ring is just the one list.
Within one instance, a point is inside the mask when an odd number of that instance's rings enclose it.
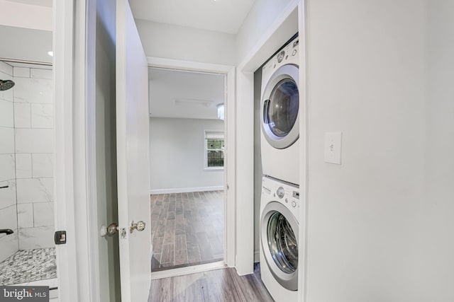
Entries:
{"label": "round glass door of the lower stacked laundry machine", "polygon": [[262,211],[260,240],[263,254],[275,279],[286,289],[298,289],[298,222],[280,202]]}

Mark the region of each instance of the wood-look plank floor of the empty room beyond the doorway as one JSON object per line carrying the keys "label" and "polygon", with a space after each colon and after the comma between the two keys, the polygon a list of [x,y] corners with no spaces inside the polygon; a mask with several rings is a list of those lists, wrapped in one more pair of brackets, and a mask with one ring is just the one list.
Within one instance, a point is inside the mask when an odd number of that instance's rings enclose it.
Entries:
{"label": "wood-look plank floor of the empty room beyond the doorway", "polygon": [[223,191],[153,194],[153,272],[223,260]]}

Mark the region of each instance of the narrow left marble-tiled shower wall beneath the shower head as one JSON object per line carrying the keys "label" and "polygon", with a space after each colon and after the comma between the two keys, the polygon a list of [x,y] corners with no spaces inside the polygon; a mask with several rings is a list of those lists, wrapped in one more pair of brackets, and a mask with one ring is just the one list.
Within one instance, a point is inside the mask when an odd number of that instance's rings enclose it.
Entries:
{"label": "narrow left marble-tiled shower wall beneath the shower head", "polygon": [[[0,62],[0,79],[13,79],[11,65]],[[0,234],[0,262],[18,250],[15,157],[13,90],[9,89],[0,91],[0,187],[4,187],[0,189],[0,228],[14,233]]]}

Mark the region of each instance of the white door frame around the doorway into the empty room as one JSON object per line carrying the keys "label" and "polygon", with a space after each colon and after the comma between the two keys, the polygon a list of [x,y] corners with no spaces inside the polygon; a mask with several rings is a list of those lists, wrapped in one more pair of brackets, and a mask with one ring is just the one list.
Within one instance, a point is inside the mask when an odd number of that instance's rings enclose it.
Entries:
{"label": "white door frame around the doorway into the empty room", "polygon": [[228,267],[236,265],[236,105],[235,105],[235,66],[209,64],[201,62],[147,57],[148,67],[178,69],[183,71],[223,74],[225,76],[225,120],[224,133],[226,141],[224,173],[224,263]]}

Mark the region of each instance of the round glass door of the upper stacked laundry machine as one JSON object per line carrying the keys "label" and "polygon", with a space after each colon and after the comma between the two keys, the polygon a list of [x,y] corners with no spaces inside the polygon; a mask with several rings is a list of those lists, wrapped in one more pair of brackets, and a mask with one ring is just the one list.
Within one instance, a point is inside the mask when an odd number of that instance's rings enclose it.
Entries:
{"label": "round glass door of the upper stacked laundry machine", "polygon": [[299,69],[287,64],[272,74],[262,93],[262,132],[271,146],[284,149],[299,137]]}

